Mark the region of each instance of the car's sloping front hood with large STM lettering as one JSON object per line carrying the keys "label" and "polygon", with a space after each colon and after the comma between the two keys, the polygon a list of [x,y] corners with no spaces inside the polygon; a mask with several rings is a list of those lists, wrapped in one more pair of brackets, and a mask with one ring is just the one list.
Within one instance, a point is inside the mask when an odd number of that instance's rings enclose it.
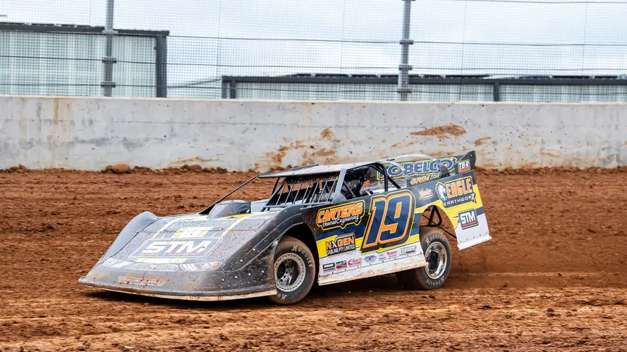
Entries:
{"label": "car's sloping front hood with large STM lettering", "polygon": [[276,213],[252,213],[210,219],[176,215],[152,222],[137,232],[104,266],[150,271],[224,270],[236,253],[241,258],[259,239],[258,230]]}

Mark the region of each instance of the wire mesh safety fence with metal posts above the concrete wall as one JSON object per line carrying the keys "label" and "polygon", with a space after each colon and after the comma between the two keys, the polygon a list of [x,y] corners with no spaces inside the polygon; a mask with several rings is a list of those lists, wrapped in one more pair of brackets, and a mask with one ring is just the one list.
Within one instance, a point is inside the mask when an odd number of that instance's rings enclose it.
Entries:
{"label": "wire mesh safety fence with metal posts above the concrete wall", "polygon": [[0,0],[0,94],[627,101],[625,18],[627,1]]}

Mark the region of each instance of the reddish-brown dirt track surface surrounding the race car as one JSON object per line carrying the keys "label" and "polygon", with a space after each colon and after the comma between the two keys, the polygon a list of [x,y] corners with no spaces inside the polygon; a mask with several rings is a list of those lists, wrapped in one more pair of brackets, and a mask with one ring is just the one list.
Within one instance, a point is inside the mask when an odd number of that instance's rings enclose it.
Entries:
{"label": "reddish-brown dirt track surface surrounding the race car", "polygon": [[627,172],[478,175],[493,240],[453,251],[437,291],[405,291],[388,275],[279,307],[76,283],[134,215],[198,211],[249,176],[0,173],[0,349],[627,348]]}

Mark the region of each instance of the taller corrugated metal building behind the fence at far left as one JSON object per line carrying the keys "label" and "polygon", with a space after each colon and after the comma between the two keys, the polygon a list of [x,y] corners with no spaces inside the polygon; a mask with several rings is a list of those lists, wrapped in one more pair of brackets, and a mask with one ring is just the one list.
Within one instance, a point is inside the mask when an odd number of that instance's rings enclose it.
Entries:
{"label": "taller corrugated metal building behind the fence at far left", "polygon": [[[103,27],[0,23],[0,94],[102,95]],[[114,96],[165,96],[167,31],[117,30]],[[163,89],[162,89],[163,90]]]}

